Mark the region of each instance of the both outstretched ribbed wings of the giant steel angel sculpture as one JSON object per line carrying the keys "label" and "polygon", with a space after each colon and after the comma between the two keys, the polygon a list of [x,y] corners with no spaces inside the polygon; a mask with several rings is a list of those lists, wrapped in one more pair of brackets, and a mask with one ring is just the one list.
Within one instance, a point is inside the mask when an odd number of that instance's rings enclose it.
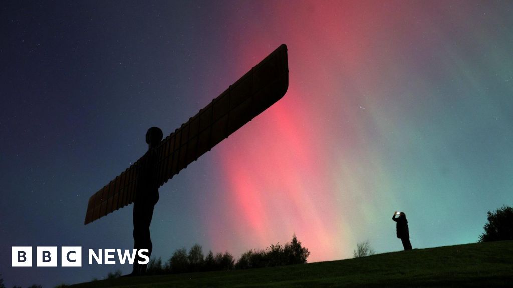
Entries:
{"label": "both outstretched ribbed wings of the giant steel angel sculpture", "polygon": [[[280,100],[287,88],[287,47],[281,45],[155,148],[159,187]],[[89,198],[84,224],[133,203],[143,157]]]}

